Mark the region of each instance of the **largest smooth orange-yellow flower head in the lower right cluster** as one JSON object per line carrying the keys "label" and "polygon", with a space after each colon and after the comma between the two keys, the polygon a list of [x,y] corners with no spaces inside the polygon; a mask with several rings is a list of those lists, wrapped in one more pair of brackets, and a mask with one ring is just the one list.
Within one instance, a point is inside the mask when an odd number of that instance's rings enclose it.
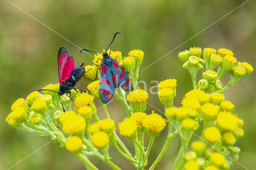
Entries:
{"label": "largest smooth orange-yellow flower head in the lower right cluster", "polygon": [[217,124],[223,130],[233,131],[237,125],[237,119],[231,112],[220,111],[217,115]]}

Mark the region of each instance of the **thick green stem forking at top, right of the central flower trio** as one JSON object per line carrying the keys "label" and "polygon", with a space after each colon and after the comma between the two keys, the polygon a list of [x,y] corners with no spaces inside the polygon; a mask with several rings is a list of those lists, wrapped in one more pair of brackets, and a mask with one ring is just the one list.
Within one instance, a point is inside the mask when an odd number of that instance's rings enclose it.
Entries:
{"label": "thick green stem forking at top, right of the central flower trio", "polygon": [[170,145],[172,139],[174,138],[174,136],[176,136],[176,134],[178,134],[178,130],[176,130],[173,134],[172,134],[172,124],[169,124],[169,133],[168,133],[168,138],[166,140],[166,143],[164,144],[164,147],[162,148],[160,154],[158,155],[158,157],[156,158],[156,160],[154,161],[154,163],[150,166],[149,170],[153,170],[156,165],[158,164],[158,162],[161,160],[162,156],[164,156],[164,153],[166,152],[168,146]]}

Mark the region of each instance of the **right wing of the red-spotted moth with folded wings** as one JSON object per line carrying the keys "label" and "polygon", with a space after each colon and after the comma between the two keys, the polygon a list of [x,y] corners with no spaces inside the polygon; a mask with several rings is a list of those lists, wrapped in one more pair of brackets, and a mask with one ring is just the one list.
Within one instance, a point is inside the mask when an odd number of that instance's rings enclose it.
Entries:
{"label": "right wing of the red-spotted moth with folded wings", "polygon": [[112,61],[112,65],[110,67],[113,74],[112,77],[116,78],[116,83],[125,91],[132,91],[133,86],[128,74],[115,59],[110,59]]}

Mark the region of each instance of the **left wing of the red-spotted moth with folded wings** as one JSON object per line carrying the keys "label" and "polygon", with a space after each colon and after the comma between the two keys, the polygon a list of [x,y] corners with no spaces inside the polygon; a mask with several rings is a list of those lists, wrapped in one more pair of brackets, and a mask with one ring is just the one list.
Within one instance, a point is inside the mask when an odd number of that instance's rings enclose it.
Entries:
{"label": "left wing of the red-spotted moth with folded wings", "polygon": [[[102,60],[103,61],[103,60]],[[103,63],[103,62],[102,62]],[[113,97],[115,87],[112,79],[110,67],[100,65],[100,100],[102,103],[107,103]]]}

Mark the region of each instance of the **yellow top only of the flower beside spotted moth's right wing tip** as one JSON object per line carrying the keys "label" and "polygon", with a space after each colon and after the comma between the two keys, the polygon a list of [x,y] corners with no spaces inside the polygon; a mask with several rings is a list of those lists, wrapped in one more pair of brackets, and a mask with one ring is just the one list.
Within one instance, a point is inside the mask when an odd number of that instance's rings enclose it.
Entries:
{"label": "yellow top only of the flower beside spotted moth's right wing tip", "polygon": [[148,92],[140,89],[140,87],[138,87],[137,90],[134,90],[128,95],[126,95],[126,100],[130,101],[131,103],[144,102],[147,99],[148,99]]}

